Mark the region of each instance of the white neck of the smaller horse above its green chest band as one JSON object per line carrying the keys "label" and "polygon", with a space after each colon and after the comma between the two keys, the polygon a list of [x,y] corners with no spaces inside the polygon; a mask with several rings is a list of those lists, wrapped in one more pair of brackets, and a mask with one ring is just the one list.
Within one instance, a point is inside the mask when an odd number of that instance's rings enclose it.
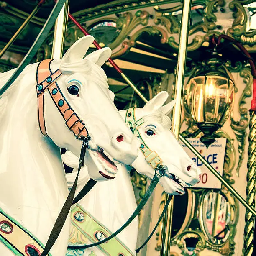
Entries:
{"label": "white neck of the smaller horse above its green chest band", "polygon": [[[90,166],[87,168],[90,168]],[[77,193],[82,189],[87,180],[90,179],[87,168],[81,170],[82,173],[80,175],[82,177],[87,176],[87,178],[85,178],[84,182],[79,182]],[[131,217],[137,207],[130,173],[126,167],[118,165],[118,173],[115,179],[97,182],[92,190],[79,201],[79,205],[111,232],[118,230]],[[135,251],[137,235],[138,218],[118,234],[117,237],[131,251]]]}

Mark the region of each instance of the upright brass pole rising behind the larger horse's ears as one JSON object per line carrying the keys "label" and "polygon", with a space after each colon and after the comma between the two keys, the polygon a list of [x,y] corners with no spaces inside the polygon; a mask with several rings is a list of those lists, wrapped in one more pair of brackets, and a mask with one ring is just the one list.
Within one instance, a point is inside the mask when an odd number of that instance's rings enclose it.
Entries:
{"label": "upright brass pole rising behind the larger horse's ears", "polygon": [[54,27],[54,40],[51,51],[52,59],[61,59],[65,46],[65,35],[69,13],[69,0],[66,1],[59,13]]}

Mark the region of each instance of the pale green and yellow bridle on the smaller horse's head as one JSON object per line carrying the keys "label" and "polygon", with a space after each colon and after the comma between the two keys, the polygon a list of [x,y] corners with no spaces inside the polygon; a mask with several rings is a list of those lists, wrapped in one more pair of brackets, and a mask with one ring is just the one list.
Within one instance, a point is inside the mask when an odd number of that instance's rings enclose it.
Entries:
{"label": "pale green and yellow bridle on the smaller horse's head", "polygon": [[145,141],[143,141],[143,138],[141,137],[140,132],[138,131],[138,128],[144,123],[144,119],[140,118],[136,120],[134,112],[136,108],[129,108],[126,112],[125,116],[125,123],[129,125],[131,131],[135,136],[140,138],[141,140],[141,151],[143,155],[145,156],[145,160],[150,164],[152,168],[156,168],[159,164],[162,164],[162,159],[160,156],[156,153],[156,151],[152,151],[148,146],[146,145]]}

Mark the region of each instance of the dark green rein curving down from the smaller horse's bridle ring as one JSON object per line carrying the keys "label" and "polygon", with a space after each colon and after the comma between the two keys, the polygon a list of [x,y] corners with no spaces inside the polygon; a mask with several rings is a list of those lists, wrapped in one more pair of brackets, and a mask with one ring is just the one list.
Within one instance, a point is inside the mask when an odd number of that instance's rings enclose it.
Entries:
{"label": "dark green rein curving down from the smaller horse's bridle ring", "polygon": [[136,210],[133,212],[131,217],[123,224],[123,226],[121,228],[119,228],[117,231],[115,231],[115,233],[113,233],[112,235],[108,236],[107,238],[105,238],[102,241],[99,241],[97,243],[86,244],[86,245],[81,245],[81,246],[68,246],[68,249],[86,249],[86,248],[90,248],[93,246],[99,246],[102,243],[106,243],[110,239],[117,236],[121,231],[123,231],[136,218],[136,216],[139,214],[139,212],[142,210],[142,208],[146,205],[146,202],[148,201],[149,197],[154,192],[154,189],[155,189],[156,185],[158,184],[159,179],[164,175],[164,173],[165,173],[165,169],[163,166],[159,166],[158,168],[156,168],[155,175],[154,175],[153,179],[151,180],[150,185],[149,185],[144,197],[142,198],[141,202],[138,204]]}

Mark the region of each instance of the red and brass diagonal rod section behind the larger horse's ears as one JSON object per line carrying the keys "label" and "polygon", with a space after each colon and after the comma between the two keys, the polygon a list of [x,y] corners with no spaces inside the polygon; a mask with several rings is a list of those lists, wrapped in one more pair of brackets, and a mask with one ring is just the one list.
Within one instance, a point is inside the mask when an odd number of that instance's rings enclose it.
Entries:
{"label": "red and brass diagonal rod section behind the larger horse's ears", "polygon": [[[74,24],[84,33],[84,35],[88,36],[89,33],[84,29],[84,27],[74,18],[72,14],[69,13],[69,18],[74,22]],[[100,45],[94,40],[93,44],[96,49],[101,49]],[[136,85],[123,73],[123,71],[118,67],[117,64],[113,61],[113,59],[108,59],[109,63],[113,66],[113,68],[123,77],[123,79],[133,88],[133,90],[141,97],[144,102],[148,102],[148,100],[143,96],[143,94],[137,89]]]}

